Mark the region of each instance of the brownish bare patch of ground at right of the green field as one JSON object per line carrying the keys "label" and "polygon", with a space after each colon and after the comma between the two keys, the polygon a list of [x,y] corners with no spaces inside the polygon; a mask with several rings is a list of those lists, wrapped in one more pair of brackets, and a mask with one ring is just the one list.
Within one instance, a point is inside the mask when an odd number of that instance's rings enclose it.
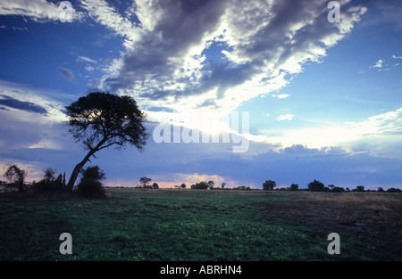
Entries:
{"label": "brownish bare patch of ground at right of the green field", "polygon": [[266,201],[264,211],[295,226],[371,237],[384,243],[389,254],[402,258],[402,194],[303,193]]}

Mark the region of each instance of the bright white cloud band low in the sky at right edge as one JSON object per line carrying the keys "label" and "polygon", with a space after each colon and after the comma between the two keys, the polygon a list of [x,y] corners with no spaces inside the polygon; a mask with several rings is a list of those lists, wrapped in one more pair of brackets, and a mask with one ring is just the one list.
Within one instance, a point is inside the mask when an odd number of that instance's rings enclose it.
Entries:
{"label": "bright white cloud band low in the sky at right edge", "polygon": [[[281,119],[288,119],[281,116]],[[279,118],[278,118],[279,120]],[[274,144],[280,148],[302,144],[308,148],[341,147],[348,152],[364,151],[402,158],[402,108],[370,117],[360,122],[316,122],[312,127],[260,130],[260,135],[246,135],[250,141]]]}

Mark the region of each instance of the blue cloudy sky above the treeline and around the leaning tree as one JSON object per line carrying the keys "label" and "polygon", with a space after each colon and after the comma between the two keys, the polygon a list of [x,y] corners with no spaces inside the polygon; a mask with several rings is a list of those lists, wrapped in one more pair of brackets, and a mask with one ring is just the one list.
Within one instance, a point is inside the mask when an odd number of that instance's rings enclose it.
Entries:
{"label": "blue cloudy sky above the treeline and around the leaning tree", "polygon": [[65,106],[110,92],[150,137],[88,162],[105,185],[401,189],[402,2],[336,3],[2,0],[0,168],[69,177]]}

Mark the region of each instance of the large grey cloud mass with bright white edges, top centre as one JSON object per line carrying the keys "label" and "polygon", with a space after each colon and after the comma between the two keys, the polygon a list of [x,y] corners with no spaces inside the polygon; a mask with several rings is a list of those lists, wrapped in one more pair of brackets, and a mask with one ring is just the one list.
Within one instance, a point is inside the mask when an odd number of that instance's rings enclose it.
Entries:
{"label": "large grey cloud mass with bright white edges, top centre", "polygon": [[133,42],[104,86],[150,106],[174,108],[180,100],[182,108],[231,111],[286,85],[303,63],[320,62],[365,12],[342,4],[337,24],[328,22],[323,1],[138,1],[138,22],[105,2],[83,6]]}

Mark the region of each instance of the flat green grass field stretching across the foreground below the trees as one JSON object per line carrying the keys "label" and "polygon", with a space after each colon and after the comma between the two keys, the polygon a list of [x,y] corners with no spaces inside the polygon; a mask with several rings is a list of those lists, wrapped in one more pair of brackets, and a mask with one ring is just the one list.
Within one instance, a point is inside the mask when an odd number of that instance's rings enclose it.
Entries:
{"label": "flat green grass field stretching across the foreground below the trees", "polygon": [[[402,194],[107,188],[0,193],[0,260],[402,260]],[[70,233],[72,254],[59,236]],[[340,254],[330,255],[330,233]]]}

